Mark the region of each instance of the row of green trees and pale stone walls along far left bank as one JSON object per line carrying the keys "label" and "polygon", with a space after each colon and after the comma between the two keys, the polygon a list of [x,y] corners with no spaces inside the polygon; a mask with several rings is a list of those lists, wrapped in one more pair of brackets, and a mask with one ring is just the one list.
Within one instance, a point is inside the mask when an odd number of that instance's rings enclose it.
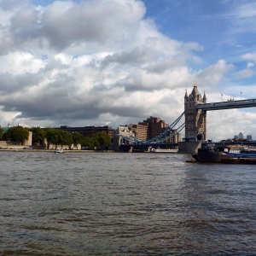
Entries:
{"label": "row of green trees and pale stone walls along far left bank", "polygon": [[84,137],[78,131],[71,133],[50,127],[13,126],[3,130],[0,126],[0,148],[2,149],[19,150],[21,147],[27,147],[22,149],[33,149],[33,146],[39,146],[40,148],[36,149],[68,148],[67,150],[75,150],[88,148],[95,150],[95,148],[101,148],[101,150],[108,150],[108,146],[111,144],[111,137],[106,131],[99,131],[91,134],[90,137]]}

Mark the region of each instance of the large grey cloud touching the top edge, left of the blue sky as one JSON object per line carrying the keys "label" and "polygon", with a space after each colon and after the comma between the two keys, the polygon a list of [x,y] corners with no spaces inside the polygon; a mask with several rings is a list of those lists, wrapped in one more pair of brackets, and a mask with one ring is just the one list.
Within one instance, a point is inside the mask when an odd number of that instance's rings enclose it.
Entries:
{"label": "large grey cloud touching the top edge, left of the blue sky", "polygon": [[[16,44],[46,38],[49,46],[57,50],[84,42],[106,44],[110,38],[124,40],[125,27],[139,22],[145,12],[142,2],[125,2],[55,2],[45,9],[30,6],[13,15],[9,30]],[[123,30],[119,29],[122,26]]]}

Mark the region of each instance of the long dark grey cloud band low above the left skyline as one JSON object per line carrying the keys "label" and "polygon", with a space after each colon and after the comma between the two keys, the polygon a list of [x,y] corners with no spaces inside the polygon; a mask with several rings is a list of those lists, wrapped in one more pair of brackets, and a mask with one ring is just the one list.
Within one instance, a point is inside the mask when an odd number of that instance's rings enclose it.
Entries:
{"label": "long dark grey cloud band low above the left skyline", "polygon": [[9,100],[2,101],[3,111],[18,111],[17,119],[47,120],[55,119],[55,122],[61,122],[62,119],[97,119],[102,113],[111,113],[122,117],[143,117],[147,108],[138,109],[136,106],[112,106],[114,97],[108,99],[106,104],[102,105],[102,99],[98,96],[84,95],[84,101],[73,102],[71,96],[65,91],[44,93],[34,96],[33,99],[26,100],[21,97],[15,102]]}

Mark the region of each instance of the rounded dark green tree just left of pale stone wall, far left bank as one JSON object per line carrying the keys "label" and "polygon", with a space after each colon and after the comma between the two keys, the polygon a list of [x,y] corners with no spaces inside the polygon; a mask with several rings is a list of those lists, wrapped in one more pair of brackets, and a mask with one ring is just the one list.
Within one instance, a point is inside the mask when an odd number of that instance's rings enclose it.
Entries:
{"label": "rounded dark green tree just left of pale stone wall, far left bank", "polygon": [[8,131],[3,133],[3,138],[5,140],[10,140],[19,144],[21,143],[21,145],[28,139],[28,136],[28,129],[22,126],[10,127]]}

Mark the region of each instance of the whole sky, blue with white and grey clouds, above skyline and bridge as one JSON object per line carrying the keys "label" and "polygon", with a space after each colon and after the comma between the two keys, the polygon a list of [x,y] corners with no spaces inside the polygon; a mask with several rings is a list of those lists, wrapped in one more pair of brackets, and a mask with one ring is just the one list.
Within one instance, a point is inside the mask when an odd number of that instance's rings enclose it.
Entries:
{"label": "whole sky, blue with white and grey clouds, above skyline and bridge", "polygon": [[[252,0],[0,0],[0,125],[172,124],[195,83],[256,98],[255,23]],[[207,112],[208,139],[255,128],[255,108]]]}

